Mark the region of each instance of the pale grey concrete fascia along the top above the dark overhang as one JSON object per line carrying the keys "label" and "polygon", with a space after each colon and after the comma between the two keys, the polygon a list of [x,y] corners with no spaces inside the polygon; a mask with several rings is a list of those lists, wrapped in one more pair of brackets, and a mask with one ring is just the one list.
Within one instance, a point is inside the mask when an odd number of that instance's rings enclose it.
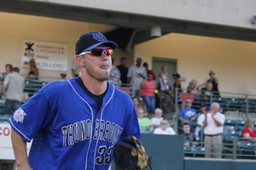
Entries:
{"label": "pale grey concrete fascia along the top above the dark overhang", "polygon": [[251,18],[254,0],[35,0],[122,13],[143,14],[177,20],[255,29]]}

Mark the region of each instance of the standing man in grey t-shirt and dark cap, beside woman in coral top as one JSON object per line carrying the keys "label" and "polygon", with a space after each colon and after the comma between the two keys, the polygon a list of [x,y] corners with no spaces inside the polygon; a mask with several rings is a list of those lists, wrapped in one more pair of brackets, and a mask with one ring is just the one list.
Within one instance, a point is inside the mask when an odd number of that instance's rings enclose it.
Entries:
{"label": "standing man in grey t-shirt and dark cap, beside woman in coral top", "polygon": [[147,71],[145,67],[142,66],[143,59],[137,58],[136,65],[131,65],[127,74],[127,83],[130,83],[134,86],[135,95],[138,96],[140,84],[143,82],[143,79],[147,77]]}

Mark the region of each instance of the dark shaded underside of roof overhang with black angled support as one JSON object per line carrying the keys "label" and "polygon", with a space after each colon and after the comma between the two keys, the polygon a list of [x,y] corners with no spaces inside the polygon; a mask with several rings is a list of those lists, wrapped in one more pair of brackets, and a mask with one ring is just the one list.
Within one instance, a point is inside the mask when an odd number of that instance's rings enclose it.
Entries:
{"label": "dark shaded underside of roof overhang with black angled support", "polygon": [[131,49],[138,43],[155,38],[151,36],[153,26],[160,26],[162,36],[175,32],[256,42],[256,30],[253,29],[125,14],[47,2],[0,0],[0,11],[111,25],[114,28],[103,33],[108,39],[117,42],[119,48],[123,50]]}

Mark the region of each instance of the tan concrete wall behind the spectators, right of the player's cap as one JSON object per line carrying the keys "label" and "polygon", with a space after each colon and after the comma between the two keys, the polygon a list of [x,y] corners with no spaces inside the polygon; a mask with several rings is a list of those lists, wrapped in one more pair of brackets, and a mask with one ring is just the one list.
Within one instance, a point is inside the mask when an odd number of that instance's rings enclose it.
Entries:
{"label": "tan concrete wall behind the spectators, right of the player's cap", "polygon": [[192,79],[206,81],[209,71],[215,71],[220,92],[256,94],[256,42],[171,33],[137,45],[137,57],[150,68],[152,57],[177,59],[177,72],[186,78],[183,88]]}

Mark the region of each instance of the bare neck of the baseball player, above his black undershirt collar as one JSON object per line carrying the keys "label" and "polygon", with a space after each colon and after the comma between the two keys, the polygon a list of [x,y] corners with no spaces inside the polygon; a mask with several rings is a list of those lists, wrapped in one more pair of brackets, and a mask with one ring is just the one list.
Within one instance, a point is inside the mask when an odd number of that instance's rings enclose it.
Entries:
{"label": "bare neck of the baseball player, above his black undershirt collar", "polygon": [[90,91],[90,93],[95,95],[103,94],[107,89],[107,81],[100,82],[96,79],[92,79],[90,77],[80,76],[84,86]]}

